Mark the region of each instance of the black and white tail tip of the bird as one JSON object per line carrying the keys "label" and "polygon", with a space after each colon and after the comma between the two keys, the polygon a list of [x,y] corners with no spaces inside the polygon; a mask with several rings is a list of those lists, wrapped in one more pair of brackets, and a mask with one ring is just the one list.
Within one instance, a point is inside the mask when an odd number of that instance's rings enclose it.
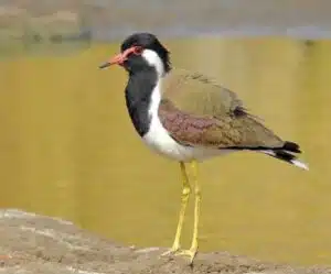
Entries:
{"label": "black and white tail tip of the bird", "polygon": [[298,157],[292,154],[292,153],[301,153],[299,145],[296,144],[296,143],[285,142],[282,147],[260,150],[260,152],[263,152],[263,153],[265,153],[265,154],[267,154],[271,157],[279,158],[279,160],[285,161],[289,164],[298,166],[302,169],[306,169],[306,171],[309,169],[307,164],[299,161]]}

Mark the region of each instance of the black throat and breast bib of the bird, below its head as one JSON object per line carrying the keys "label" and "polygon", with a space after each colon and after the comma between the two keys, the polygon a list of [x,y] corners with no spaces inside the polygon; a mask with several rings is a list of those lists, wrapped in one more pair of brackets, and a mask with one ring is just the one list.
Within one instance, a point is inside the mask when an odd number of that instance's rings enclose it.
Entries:
{"label": "black throat and breast bib of the bird, below its head", "polygon": [[158,74],[153,67],[147,67],[129,75],[126,87],[126,103],[135,129],[140,136],[149,131],[151,117],[148,110],[157,83]]}

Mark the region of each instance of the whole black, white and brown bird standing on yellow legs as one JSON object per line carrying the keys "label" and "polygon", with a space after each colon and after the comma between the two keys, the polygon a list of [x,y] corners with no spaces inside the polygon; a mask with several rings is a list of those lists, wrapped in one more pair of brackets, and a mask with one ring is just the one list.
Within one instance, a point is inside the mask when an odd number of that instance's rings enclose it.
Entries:
{"label": "whole black, white and brown bird standing on yellow legs", "polygon": [[[193,264],[199,250],[201,186],[197,165],[224,154],[250,151],[302,169],[299,144],[285,141],[250,113],[239,97],[200,72],[172,66],[170,51],[148,32],[127,36],[120,53],[99,65],[119,65],[128,75],[126,106],[141,140],[180,165],[182,191],[172,246],[162,255],[183,255]],[[188,167],[192,169],[191,180]],[[193,184],[191,184],[193,183]],[[194,190],[194,224],[190,249],[180,244],[190,194]]]}

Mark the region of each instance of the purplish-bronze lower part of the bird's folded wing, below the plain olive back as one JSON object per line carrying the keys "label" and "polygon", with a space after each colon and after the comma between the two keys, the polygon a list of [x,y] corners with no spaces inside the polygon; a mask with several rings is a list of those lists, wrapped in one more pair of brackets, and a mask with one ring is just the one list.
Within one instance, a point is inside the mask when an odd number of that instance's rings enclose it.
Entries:
{"label": "purplish-bronze lower part of the bird's folded wing, below the plain olive back", "polygon": [[248,114],[221,118],[193,116],[162,100],[159,117],[169,134],[183,145],[215,149],[284,145],[273,131]]}

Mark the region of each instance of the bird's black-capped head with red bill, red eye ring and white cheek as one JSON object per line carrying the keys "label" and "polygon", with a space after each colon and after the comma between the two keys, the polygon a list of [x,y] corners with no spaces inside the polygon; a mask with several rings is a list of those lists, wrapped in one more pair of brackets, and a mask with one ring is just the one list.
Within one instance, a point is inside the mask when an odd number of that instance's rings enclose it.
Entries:
{"label": "bird's black-capped head with red bill, red eye ring and white cheek", "polygon": [[157,64],[153,63],[160,59],[166,73],[171,69],[170,53],[153,34],[135,33],[130,35],[122,42],[120,52],[120,54],[102,65],[100,68],[118,64],[134,74],[157,66]]}

